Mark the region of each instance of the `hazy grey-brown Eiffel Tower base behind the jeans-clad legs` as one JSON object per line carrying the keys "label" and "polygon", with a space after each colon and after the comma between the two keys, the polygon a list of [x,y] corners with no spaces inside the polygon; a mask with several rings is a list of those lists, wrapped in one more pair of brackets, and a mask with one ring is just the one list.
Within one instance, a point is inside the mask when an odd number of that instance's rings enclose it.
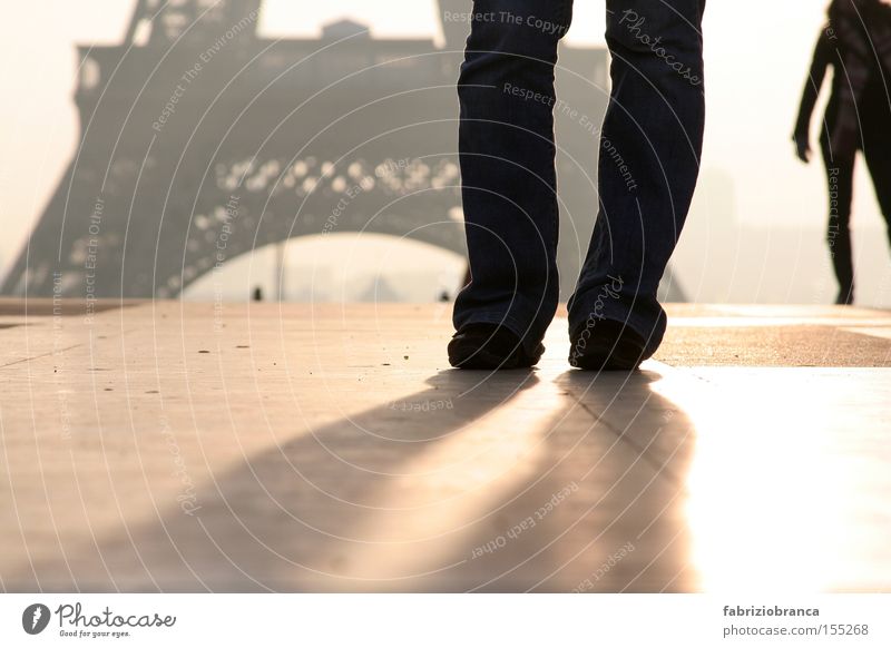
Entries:
{"label": "hazy grey-brown Eiffel Tower base behind the jeans-clad legs", "polygon": [[[440,0],[468,11],[469,0]],[[11,295],[173,297],[292,237],[368,232],[463,254],[454,81],[468,24],[265,39],[261,0],[138,0],[121,45],[80,46],[74,159],[6,277]],[[600,48],[564,47],[560,98],[599,125]],[[561,296],[596,215],[597,140],[557,119]],[[570,214],[571,217],[566,217]]]}

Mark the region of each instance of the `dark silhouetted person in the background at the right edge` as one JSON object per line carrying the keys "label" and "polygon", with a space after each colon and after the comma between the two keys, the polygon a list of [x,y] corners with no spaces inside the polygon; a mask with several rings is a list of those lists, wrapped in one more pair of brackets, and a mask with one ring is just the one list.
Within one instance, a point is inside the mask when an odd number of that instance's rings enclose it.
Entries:
{"label": "dark silhouetted person in the background at the right edge", "polygon": [[793,135],[797,155],[805,163],[811,154],[811,114],[830,66],[832,94],[820,136],[830,198],[826,237],[839,281],[835,303],[852,304],[850,223],[858,150],[866,160],[891,236],[891,111],[885,88],[891,81],[891,8],[880,0],[834,0],[830,6]]}

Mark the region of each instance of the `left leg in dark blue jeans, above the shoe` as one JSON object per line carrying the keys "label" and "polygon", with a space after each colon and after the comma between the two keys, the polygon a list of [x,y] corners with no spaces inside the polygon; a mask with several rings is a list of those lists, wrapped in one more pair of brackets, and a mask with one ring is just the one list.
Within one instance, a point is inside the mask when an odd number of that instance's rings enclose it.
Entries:
{"label": "left leg in dark blue jeans, above the shoe", "polygon": [[460,332],[501,324],[535,354],[559,298],[554,66],[571,0],[474,0],[458,81],[471,282]]}

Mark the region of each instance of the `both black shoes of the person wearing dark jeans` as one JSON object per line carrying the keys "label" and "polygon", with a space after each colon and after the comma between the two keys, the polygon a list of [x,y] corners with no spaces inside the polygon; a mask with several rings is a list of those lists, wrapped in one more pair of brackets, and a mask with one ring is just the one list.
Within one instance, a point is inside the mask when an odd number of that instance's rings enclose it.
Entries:
{"label": "both black shoes of the person wearing dark jeans", "polygon": [[[623,322],[600,320],[574,331],[569,364],[591,371],[634,371],[646,360],[645,340]],[[532,353],[520,338],[499,324],[469,324],[449,343],[449,362],[458,369],[521,369],[536,364],[545,347]]]}

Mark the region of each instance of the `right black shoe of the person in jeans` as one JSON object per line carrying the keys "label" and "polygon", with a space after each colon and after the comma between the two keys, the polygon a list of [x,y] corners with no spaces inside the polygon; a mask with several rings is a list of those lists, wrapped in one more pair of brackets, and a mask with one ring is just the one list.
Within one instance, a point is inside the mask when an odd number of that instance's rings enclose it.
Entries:
{"label": "right black shoe of the person in jeans", "polygon": [[569,364],[577,369],[634,371],[649,357],[645,355],[644,338],[630,326],[613,320],[598,320],[591,327],[582,325],[569,341]]}

